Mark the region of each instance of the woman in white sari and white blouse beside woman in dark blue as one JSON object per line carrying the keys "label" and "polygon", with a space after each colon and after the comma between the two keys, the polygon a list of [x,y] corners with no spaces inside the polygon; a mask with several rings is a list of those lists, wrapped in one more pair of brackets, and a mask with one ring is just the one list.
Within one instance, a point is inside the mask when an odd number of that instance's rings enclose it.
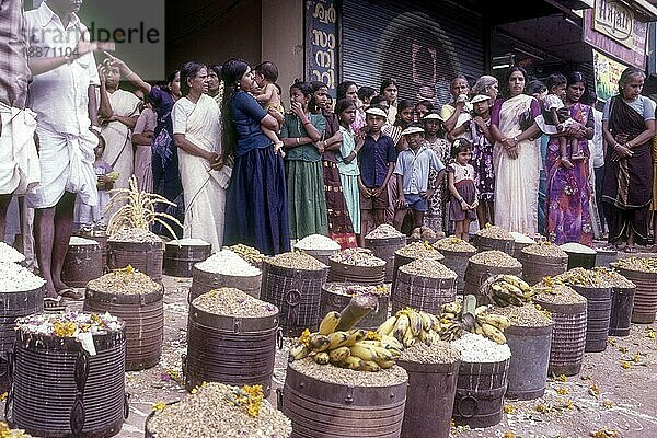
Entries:
{"label": "woman in white sari and white blouse beside woman in dark blue", "polygon": [[226,187],[230,169],[221,161],[220,110],[207,94],[207,69],[196,61],[181,69],[183,97],[173,105],[173,141],[185,194],[184,238],[203,239],[219,251],[223,243]]}

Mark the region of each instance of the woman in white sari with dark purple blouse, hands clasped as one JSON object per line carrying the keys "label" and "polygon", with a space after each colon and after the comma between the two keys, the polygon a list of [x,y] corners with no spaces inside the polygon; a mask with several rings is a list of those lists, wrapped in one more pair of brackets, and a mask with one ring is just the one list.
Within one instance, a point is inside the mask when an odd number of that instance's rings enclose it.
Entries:
{"label": "woman in white sari with dark purple blouse, hands clasped", "polygon": [[511,67],[504,87],[505,99],[491,111],[491,132],[495,138],[495,224],[533,235],[538,227],[539,173],[541,154],[539,128],[533,119],[541,113],[539,102],[527,94],[527,72]]}

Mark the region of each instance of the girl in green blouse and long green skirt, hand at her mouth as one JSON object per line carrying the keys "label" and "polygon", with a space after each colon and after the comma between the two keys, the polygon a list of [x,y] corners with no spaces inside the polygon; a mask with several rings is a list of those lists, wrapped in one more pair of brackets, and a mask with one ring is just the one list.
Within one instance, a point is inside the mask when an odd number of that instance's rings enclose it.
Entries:
{"label": "girl in green blouse and long green skirt, hand at her mouth", "polygon": [[280,138],[287,150],[287,178],[290,237],[301,240],[310,234],[328,234],[326,196],[322,173],[322,147],[326,119],[310,114],[312,85],[296,82],[290,87],[291,113],[285,115]]}

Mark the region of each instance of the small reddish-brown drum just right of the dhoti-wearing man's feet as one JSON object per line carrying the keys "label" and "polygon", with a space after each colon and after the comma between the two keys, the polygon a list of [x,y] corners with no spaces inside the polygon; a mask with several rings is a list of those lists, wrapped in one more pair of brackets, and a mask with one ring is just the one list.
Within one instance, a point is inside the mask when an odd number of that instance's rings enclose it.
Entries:
{"label": "small reddish-brown drum just right of the dhoti-wearing man's feet", "polygon": [[99,243],[88,245],[69,244],[61,279],[70,287],[82,288],[91,280],[101,277],[105,272],[103,252]]}

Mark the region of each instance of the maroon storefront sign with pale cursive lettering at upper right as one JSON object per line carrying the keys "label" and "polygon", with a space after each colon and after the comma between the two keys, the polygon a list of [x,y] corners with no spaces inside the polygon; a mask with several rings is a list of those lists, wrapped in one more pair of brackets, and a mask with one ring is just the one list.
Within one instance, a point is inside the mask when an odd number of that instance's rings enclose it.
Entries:
{"label": "maroon storefront sign with pale cursive lettering at upper right", "polygon": [[[598,7],[600,0],[597,0]],[[597,10],[597,8],[596,8]],[[633,15],[632,21],[632,48],[621,44],[607,33],[600,32],[593,27],[595,11],[584,11],[584,42],[597,48],[598,50],[613,56],[621,61],[644,69],[646,66],[646,39],[648,24],[639,16]],[[618,15],[618,20],[624,23],[623,15]],[[616,26],[621,27],[621,24]]]}

